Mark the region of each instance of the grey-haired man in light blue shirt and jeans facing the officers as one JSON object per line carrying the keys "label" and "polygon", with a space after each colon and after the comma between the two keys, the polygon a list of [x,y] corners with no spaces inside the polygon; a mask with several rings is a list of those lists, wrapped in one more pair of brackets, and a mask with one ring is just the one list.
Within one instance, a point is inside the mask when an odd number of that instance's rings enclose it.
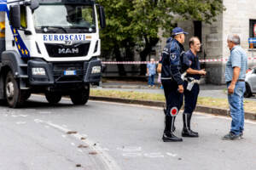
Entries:
{"label": "grey-haired man in light blue shirt and jeans facing the officers", "polygon": [[247,71],[247,54],[240,46],[240,37],[228,37],[230,58],[226,64],[225,82],[228,88],[230,116],[232,117],[230,133],[223,139],[240,139],[244,130],[243,94],[245,92],[245,77]]}

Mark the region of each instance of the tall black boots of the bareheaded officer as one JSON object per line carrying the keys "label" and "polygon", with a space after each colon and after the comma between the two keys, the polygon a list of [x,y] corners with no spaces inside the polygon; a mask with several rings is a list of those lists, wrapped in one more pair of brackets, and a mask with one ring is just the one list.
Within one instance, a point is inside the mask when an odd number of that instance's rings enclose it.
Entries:
{"label": "tall black boots of the bareheaded officer", "polygon": [[196,132],[193,132],[190,129],[190,120],[191,120],[192,114],[184,114],[183,113],[183,137],[199,137],[199,134]]}

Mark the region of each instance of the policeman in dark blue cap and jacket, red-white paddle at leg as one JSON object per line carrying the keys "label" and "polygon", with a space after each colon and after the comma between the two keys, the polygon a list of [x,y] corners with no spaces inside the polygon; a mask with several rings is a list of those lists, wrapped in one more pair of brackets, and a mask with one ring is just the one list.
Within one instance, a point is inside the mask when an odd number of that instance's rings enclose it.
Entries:
{"label": "policeman in dark blue cap and jacket, red-white paddle at leg", "polygon": [[188,33],[182,28],[174,28],[172,39],[169,39],[162,52],[161,82],[166,96],[166,127],[162,137],[164,142],[183,141],[173,131],[175,117],[183,105],[182,73],[189,68],[189,60],[186,59],[183,48],[185,34]]}

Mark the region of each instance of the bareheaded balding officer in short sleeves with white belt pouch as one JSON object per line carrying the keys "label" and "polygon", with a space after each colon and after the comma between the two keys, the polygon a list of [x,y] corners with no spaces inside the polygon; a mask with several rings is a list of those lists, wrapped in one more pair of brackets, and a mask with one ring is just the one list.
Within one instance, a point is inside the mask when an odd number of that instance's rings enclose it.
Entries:
{"label": "bareheaded balding officer in short sleeves with white belt pouch", "polygon": [[189,51],[186,56],[189,59],[189,69],[184,81],[184,112],[183,112],[183,137],[199,137],[199,134],[190,129],[190,121],[192,113],[195,110],[197,97],[199,94],[199,81],[201,75],[206,75],[207,72],[200,67],[200,61],[197,53],[201,50],[201,42],[198,37],[189,39]]}

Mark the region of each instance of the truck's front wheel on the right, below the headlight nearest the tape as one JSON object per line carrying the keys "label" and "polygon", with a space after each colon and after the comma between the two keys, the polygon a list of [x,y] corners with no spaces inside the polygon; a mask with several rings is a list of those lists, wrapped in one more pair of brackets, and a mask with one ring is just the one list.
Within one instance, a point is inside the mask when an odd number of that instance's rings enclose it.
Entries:
{"label": "truck's front wheel on the right, below the headlight nearest the tape", "polygon": [[82,88],[73,94],[70,94],[70,99],[73,105],[85,105],[89,99],[90,88]]}

